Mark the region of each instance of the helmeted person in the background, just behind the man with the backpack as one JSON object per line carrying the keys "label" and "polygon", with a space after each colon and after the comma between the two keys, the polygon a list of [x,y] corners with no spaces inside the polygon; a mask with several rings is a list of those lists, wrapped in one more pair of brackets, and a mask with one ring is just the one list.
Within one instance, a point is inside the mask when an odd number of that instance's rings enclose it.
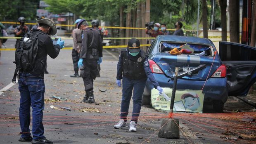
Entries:
{"label": "helmeted person in the background, just behind the man with the backpack", "polygon": [[[28,26],[25,25],[26,19],[24,17],[19,17],[18,19],[20,26],[15,28],[15,37],[24,37],[24,35],[29,31]],[[19,39],[16,40],[15,48],[17,49]]]}

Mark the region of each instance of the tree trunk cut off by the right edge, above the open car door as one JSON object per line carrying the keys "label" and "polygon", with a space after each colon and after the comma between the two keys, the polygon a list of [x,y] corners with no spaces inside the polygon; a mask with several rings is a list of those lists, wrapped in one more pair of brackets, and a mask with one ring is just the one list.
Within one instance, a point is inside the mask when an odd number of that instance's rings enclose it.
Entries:
{"label": "tree trunk cut off by the right edge, above the open car door", "polygon": [[256,43],[256,0],[254,0],[254,5],[252,7],[253,15],[252,15],[252,28],[251,28],[251,43],[250,46],[255,47]]}

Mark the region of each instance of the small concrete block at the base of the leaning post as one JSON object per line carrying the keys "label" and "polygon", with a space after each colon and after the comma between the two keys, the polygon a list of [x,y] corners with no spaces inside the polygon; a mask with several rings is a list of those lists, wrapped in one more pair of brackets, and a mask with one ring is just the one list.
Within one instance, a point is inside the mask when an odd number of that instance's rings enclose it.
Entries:
{"label": "small concrete block at the base of the leaning post", "polygon": [[180,138],[179,119],[163,118],[161,121],[160,128],[161,129],[158,132],[158,137],[163,137],[166,139],[179,139]]}

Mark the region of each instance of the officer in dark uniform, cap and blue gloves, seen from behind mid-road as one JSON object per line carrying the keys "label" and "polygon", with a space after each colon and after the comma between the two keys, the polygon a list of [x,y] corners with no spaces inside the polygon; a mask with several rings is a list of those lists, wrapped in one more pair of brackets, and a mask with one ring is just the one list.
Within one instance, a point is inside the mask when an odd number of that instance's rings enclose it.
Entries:
{"label": "officer in dark uniform, cap and blue gloves, seen from behind mid-road", "polygon": [[83,30],[82,48],[78,61],[85,86],[85,96],[82,102],[91,104],[95,102],[93,80],[97,75],[97,65],[102,62],[102,39],[100,33],[90,28],[85,19],[79,21],[78,27]]}

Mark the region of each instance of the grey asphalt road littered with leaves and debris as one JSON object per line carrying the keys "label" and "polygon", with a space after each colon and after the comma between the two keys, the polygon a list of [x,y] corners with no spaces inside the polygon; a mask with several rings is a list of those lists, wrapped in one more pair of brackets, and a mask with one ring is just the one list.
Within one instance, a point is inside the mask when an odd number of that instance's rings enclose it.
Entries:
{"label": "grey asphalt road littered with leaves and debris", "polygon": [[[11,41],[10,41],[11,42]],[[12,46],[11,43],[7,43]],[[14,73],[14,51],[2,51],[0,64],[0,90],[11,83]],[[190,114],[187,116],[178,115],[180,118],[180,139],[159,138],[157,132],[160,127],[161,119],[168,113],[156,111],[150,107],[142,107],[140,120],[137,125],[137,132],[128,130],[115,130],[114,124],[119,121],[119,112],[121,104],[121,87],[117,87],[116,64],[118,53],[104,50],[103,61],[101,64],[100,78],[95,80],[95,100],[96,104],[80,103],[85,92],[82,78],[70,78],[73,74],[73,64],[71,59],[71,50],[61,50],[56,59],[47,58],[49,74],[45,75],[45,110],[43,123],[45,126],[45,136],[56,144],[226,144],[226,143],[254,143],[254,141],[226,140],[220,138],[223,136],[227,126],[221,123],[228,123],[225,120],[231,119],[207,117],[204,114]],[[100,92],[100,90],[106,92]],[[49,100],[52,96],[67,98],[67,101]],[[231,100],[232,101],[232,100]],[[239,101],[232,101],[230,106],[240,104]],[[50,106],[55,106],[52,109]],[[228,106],[228,105],[227,105]],[[230,107],[229,106],[229,107]],[[60,107],[69,107],[71,111],[61,109]],[[246,111],[253,111],[252,107],[246,104],[240,104],[228,112],[234,112],[237,108]],[[226,106],[225,106],[226,108]],[[132,111],[132,102],[130,110]],[[183,113],[186,114],[186,113]],[[130,116],[130,115],[129,115]],[[196,117],[193,117],[196,116]],[[194,118],[204,117],[204,120],[216,120],[221,128],[214,125],[206,125],[195,121]],[[220,116],[220,115],[218,115]],[[234,116],[234,115],[233,115]],[[191,121],[190,121],[191,120]],[[220,122],[219,122],[220,121]],[[19,90],[15,84],[8,90],[0,94],[0,139],[1,144],[18,144],[19,139]],[[193,123],[191,123],[193,122]],[[198,122],[198,123],[197,123]],[[232,121],[238,123],[237,121]],[[255,125],[253,125],[255,126]],[[232,128],[232,127],[231,127]],[[31,127],[32,129],[32,127]],[[230,129],[230,128],[229,128]],[[239,132],[238,128],[234,130]],[[255,132],[244,132],[250,135]],[[238,135],[225,135],[226,137],[238,137]]]}

